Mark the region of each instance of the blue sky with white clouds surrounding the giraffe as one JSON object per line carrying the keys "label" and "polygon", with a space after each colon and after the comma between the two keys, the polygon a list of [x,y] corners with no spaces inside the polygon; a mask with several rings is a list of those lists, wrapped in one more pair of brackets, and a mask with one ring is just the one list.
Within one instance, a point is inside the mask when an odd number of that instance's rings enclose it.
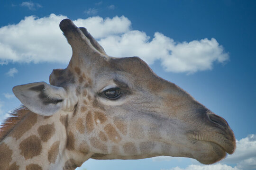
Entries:
{"label": "blue sky with white clouds surrounding the giraffe", "polygon": [[[207,169],[255,170],[255,9],[254,0],[2,0],[0,119],[19,105],[13,86],[48,82],[52,69],[67,66],[71,48],[58,23],[68,17],[87,27],[108,54],[141,57],[157,75],[229,122],[238,149]],[[205,168],[192,159],[171,157],[83,164],[87,170],[120,166],[122,170]]]}

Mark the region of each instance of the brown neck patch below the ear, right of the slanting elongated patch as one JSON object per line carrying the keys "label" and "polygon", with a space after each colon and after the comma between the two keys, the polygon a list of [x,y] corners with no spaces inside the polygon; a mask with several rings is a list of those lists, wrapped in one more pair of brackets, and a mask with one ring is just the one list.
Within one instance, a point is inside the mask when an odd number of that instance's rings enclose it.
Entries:
{"label": "brown neck patch below the ear, right of the slanting elongated patch", "polygon": [[41,140],[47,142],[55,133],[54,123],[38,127],[37,132]]}

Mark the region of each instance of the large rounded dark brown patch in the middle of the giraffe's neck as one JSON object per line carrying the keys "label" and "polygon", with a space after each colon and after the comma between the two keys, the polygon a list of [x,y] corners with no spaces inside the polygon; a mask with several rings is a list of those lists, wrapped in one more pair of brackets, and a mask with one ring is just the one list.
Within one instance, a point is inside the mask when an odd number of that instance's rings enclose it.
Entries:
{"label": "large rounded dark brown patch in the middle of the giraffe's neck", "polygon": [[41,153],[41,141],[36,135],[29,136],[19,144],[19,149],[26,160],[31,159]]}

